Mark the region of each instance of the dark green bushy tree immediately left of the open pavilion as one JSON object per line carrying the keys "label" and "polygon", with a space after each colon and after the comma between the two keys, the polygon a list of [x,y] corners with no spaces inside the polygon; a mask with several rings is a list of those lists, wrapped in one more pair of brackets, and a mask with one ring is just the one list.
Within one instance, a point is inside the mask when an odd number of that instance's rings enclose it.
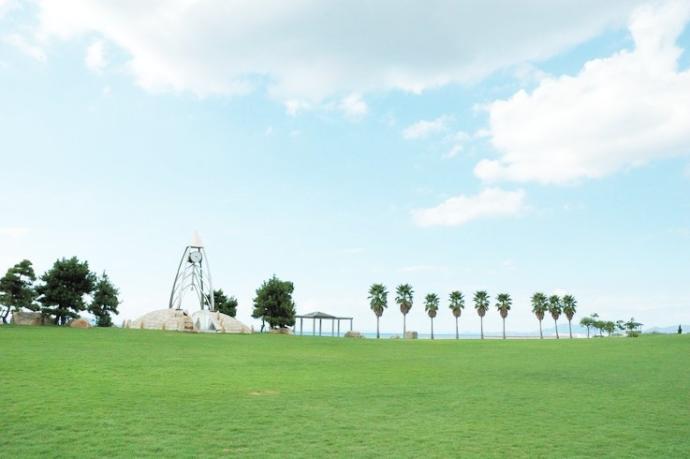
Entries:
{"label": "dark green bushy tree immediately left of the open pavilion", "polygon": [[[282,281],[275,274],[256,289],[252,317],[268,323],[270,328],[286,328],[295,325],[295,302],[292,282]],[[262,326],[263,329],[263,326]]]}

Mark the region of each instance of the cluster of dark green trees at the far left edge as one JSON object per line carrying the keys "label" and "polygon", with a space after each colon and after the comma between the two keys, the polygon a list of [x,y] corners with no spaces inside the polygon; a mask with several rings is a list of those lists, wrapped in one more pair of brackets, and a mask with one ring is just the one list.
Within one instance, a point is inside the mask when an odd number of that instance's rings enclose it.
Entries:
{"label": "cluster of dark green trees at the far left edge", "polygon": [[[7,323],[10,312],[40,312],[44,320],[65,325],[88,311],[99,327],[112,326],[111,315],[120,305],[119,291],[103,272],[91,272],[86,261],[61,258],[40,277],[29,260],[22,260],[0,278],[0,319]],[[85,297],[90,296],[90,301]]]}

